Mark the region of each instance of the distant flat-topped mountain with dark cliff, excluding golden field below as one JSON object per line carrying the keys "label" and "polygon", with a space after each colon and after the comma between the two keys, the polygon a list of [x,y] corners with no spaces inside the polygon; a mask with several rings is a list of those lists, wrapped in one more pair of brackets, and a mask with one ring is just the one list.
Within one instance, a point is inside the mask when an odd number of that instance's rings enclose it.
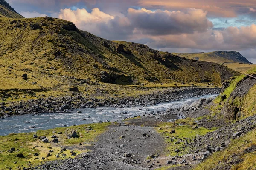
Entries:
{"label": "distant flat-topped mountain with dark cliff, excluding golden field below", "polygon": [[224,64],[227,62],[236,62],[243,64],[252,64],[239,52],[236,51],[213,51],[209,53],[172,53],[180,57],[186,57],[188,59],[195,59],[200,61],[215,62],[218,64]]}

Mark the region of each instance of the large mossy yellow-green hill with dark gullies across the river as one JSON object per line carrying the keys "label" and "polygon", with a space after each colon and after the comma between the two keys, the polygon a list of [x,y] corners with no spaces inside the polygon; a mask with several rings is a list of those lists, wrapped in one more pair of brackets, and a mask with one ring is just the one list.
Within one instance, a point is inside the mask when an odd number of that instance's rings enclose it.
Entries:
{"label": "large mossy yellow-green hill with dark gullies across the river", "polygon": [[[33,30],[31,25],[35,24],[41,29]],[[79,31],[72,23],[60,19],[17,20],[2,17],[0,36],[5,37],[0,40],[0,89],[6,91],[32,89],[48,91],[47,95],[55,96],[68,92],[70,85],[78,85],[86,93],[93,93],[97,88],[121,92],[118,89],[124,87],[100,82],[99,86],[79,85],[79,82],[70,79],[76,77],[95,82],[101,79],[102,71],[117,77],[117,84],[144,83],[153,86],[161,83],[172,86],[176,82],[205,84],[204,80],[219,85],[224,79],[237,74],[221,65],[193,62],[155,51],[146,45],[104,40]],[[117,52],[120,44],[126,45],[125,49],[131,50],[132,54]],[[22,79],[24,73],[28,74],[28,81]],[[133,91],[131,89],[135,88],[128,89]]]}

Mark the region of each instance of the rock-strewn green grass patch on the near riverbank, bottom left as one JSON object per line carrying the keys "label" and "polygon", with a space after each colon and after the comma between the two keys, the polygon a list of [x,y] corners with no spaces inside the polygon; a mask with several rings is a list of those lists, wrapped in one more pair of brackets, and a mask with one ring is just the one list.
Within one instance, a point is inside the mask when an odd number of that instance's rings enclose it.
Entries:
{"label": "rock-strewn green grass patch on the near riverbank, bottom left", "polygon": [[[16,167],[28,167],[30,164],[55,160],[57,159],[55,155],[60,153],[62,146],[72,148],[72,151],[77,154],[85,152],[86,150],[83,150],[84,146],[93,144],[96,140],[96,136],[105,132],[109,125],[111,125],[111,123],[78,125],[50,130],[39,130],[36,133],[13,133],[8,136],[0,136],[0,170],[6,168],[15,169]],[[88,126],[91,126],[93,130],[86,130],[84,128]],[[72,133],[73,130],[76,130],[79,133],[79,138],[67,139],[67,134]],[[58,132],[63,132],[63,134],[58,134]],[[33,138],[34,134],[37,134],[38,136],[46,136],[49,141],[52,140],[51,136],[56,134],[60,142],[43,143],[39,139]],[[83,145],[79,146],[79,143]],[[9,153],[7,150],[12,147],[15,147],[16,151]],[[49,150],[53,150],[54,152],[51,153],[52,156],[47,158]],[[25,158],[17,158],[16,155],[18,153],[23,153]],[[39,153],[40,159],[35,159],[36,157],[34,156],[34,153]],[[67,154],[67,157],[60,154],[60,158],[58,159],[68,158],[71,155],[70,150],[67,150],[64,153]],[[42,157],[44,157],[45,160],[42,160]]]}

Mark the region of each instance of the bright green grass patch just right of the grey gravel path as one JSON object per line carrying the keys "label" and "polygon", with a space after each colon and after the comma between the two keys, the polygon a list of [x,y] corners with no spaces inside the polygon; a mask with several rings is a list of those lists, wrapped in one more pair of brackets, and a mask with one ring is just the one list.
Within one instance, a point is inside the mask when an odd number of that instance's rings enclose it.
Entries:
{"label": "bright green grass patch just right of the grey gravel path", "polygon": [[[184,122],[184,120],[181,122]],[[188,124],[191,124],[191,119],[188,119],[186,122]],[[180,123],[180,122],[177,122],[177,123]],[[186,140],[194,139],[197,134],[203,136],[208,132],[214,131],[214,130],[206,129],[204,127],[199,127],[199,128],[194,128],[194,127],[195,127],[195,125],[193,125],[192,127],[189,125],[179,126],[176,123],[171,123],[171,122],[160,123],[158,125],[158,127],[156,127],[157,132],[162,133],[166,139],[166,143],[168,145],[166,150],[167,150],[168,155],[170,155],[170,156],[177,155],[177,152],[175,152],[176,149],[180,150],[180,152],[178,153],[179,155],[186,154],[186,150],[188,148],[186,148],[186,149],[183,148]],[[175,133],[170,134],[169,132],[171,130],[175,130]],[[167,136],[169,136],[169,138],[167,138]],[[173,138],[174,142],[171,142],[170,138]],[[175,138],[177,138],[177,139],[175,139]],[[184,139],[184,138],[186,138],[186,139]],[[178,139],[182,139],[182,141],[184,141],[184,142],[175,144],[175,142],[177,142]]]}

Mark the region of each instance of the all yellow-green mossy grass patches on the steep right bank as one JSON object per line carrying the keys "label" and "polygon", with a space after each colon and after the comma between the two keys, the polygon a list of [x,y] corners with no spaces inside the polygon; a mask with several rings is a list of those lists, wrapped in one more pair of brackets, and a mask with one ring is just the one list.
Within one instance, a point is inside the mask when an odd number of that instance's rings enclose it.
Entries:
{"label": "all yellow-green mossy grass patches on the steep right bank", "polygon": [[[256,74],[256,68],[247,71],[247,74]],[[212,108],[212,113],[220,112],[223,105],[235,105],[235,107],[241,108],[241,117],[238,119],[244,119],[249,116],[256,114],[256,84],[253,85],[247,94],[244,96],[237,96],[232,99],[229,98],[230,94],[236,89],[239,82],[243,81],[244,75],[235,77],[231,82],[230,86],[225,89],[223,94],[227,95],[227,99],[221,101],[221,97],[215,99],[215,106]],[[222,95],[223,95],[222,94]],[[220,109],[220,110],[219,110]],[[256,168],[256,151],[252,150],[247,153],[244,150],[256,145],[256,130],[252,130],[244,137],[233,140],[229,147],[225,150],[216,152],[201,164],[195,167],[195,170],[211,170],[211,169],[225,169],[228,165],[232,165],[232,170],[252,170]]]}

